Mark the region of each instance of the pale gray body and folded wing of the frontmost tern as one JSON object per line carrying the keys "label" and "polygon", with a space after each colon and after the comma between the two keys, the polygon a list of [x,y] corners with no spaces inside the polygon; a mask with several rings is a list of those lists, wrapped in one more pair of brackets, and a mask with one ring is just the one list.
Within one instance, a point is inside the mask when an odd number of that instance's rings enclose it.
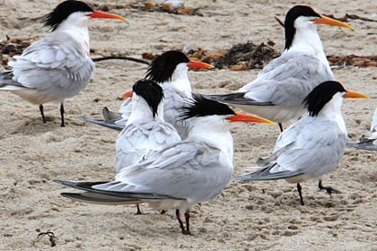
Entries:
{"label": "pale gray body and folded wing of the frontmost tern", "polygon": [[117,192],[144,192],[193,201],[219,195],[232,175],[232,160],[206,143],[185,141],[160,151],[158,157],[123,169],[120,183],[93,186]]}

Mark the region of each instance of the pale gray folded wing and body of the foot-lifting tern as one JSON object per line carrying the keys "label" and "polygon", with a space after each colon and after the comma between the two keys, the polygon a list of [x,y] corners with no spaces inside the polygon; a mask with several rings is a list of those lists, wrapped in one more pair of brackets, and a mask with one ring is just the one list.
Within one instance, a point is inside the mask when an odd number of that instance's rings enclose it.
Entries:
{"label": "pale gray folded wing and body of the foot-lifting tern", "polygon": [[320,117],[314,120],[303,117],[288,127],[277,139],[272,155],[259,160],[264,167],[238,178],[278,179],[301,174],[320,177],[335,169],[343,158],[346,134],[333,121]]}

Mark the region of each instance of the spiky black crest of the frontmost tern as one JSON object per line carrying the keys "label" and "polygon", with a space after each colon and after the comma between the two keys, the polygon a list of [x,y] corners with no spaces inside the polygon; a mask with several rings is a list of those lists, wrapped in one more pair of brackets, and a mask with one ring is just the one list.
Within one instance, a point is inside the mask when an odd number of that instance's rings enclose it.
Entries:
{"label": "spiky black crest of the frontmost tern", "polygon": [[182,106],[180,110],[182,119],[211,115],[235,115],[235,112],[227,105],[215,100],[207,100],[199,94],[192,94],[192,100],[189,100],[188,104]]}

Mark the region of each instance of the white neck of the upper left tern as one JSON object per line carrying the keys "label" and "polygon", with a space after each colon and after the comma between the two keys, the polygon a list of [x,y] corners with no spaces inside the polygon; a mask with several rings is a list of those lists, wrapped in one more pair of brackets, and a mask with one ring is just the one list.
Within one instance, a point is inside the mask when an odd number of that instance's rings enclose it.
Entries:
{"label": "white neck of the upper left tern", "polygon": [[64,22],[61,22],[53,32],[67,33],[72,39],[75,39],[89,55],[88,20],[89,17],[82,13],[73,13],[68,16]]}

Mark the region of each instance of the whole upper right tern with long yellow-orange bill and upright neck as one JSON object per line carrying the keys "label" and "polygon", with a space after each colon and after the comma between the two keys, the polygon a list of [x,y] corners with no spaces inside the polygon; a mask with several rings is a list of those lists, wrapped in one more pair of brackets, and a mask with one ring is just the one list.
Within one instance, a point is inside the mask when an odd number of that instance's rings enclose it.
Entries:
{"label": "whole upper right tern with long yellow-orange bill and upright neck", "polygon": [[309,6],[296,5],[285,16],[285,50],[282,55],[240,90],[205,97],[276,121],[283,131],[282,123],[304,114],[302,100],[309,92],[320,82],[334,80],[317,32],[320,23],[355,30],[344,22],[314,12]]}

